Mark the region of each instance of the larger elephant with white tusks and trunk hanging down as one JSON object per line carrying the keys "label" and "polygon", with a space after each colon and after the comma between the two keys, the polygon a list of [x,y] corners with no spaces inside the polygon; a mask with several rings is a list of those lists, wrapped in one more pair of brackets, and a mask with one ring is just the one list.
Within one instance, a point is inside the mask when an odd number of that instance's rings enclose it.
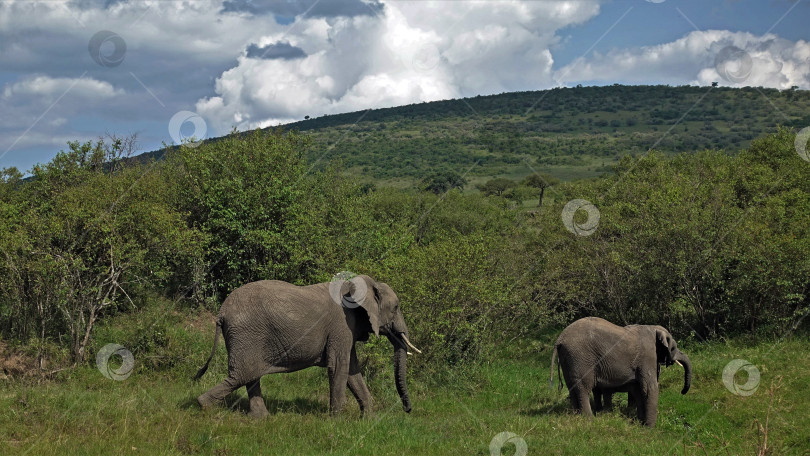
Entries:
{"label": "larger elephant with white tusks and trunk hanging down", "polygon": [[346,386],[360,404],[371,409],[371,394],[360,374],[355,343],[382,333],[394,346],[394,376],[406,412],[411,400],[405,381],[408,348],[421,353],[408,340],[408,328],[399,298],[387,284],[369,276],[296,286],[262,280],[234,290],[219,310],[214,348],[195,380],[208,369],[219,335],[228,350],[228,377],[197,398],[205,408],[222,402],[245,386],[250,398],[249,415],[268,414],[261,393],[261,377],[294,372],[310,366],[329,373],[329,410],[343,408]]}

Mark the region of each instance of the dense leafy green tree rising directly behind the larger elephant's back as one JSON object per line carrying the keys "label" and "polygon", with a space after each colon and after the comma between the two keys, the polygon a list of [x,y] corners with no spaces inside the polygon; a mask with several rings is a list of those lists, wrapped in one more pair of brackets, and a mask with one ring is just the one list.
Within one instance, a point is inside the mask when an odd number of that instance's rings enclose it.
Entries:
{"label": "dense leafy green tree rising directly behind the larger elephant's back", "polygon": [[170,157],[173,193],[208,240],[206,280],[219,297],[255,280],[306,279],[296,248],[308,228],[305,146],[297,133],[254,130]]}

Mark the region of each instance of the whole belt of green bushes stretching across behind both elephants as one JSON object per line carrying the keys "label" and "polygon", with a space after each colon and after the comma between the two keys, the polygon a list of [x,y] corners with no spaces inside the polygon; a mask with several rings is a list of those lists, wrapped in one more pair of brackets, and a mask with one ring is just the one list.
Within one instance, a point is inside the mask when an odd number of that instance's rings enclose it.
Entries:
{"label": "whole belt of green bushes stretching across behind both elephants", "polygon": [[[810,312],[810,164],[794,138],[783,129],[737,156],[625,157],[528,213],[458,189],[364,185],[339,163],[307,163],[298,133],[233,134],[145,165],[121,160],[120,142],[71,143],[30,180],[0,173],[0,335],[81,361],[102,342],[97,321],[131,313],[102,333],[171,368],[188,355],[179,320],[140,319],[150,303],[215,312],[246,282],[344,270],[397,292],[426,375],[586,315],[680,337],[781,334]],[[532,179],[504,196],[552,184]],[[589,236],[562,223],[575,198],[599,210]],[[381,374],[390,346],[366,348],[366,372]]]}

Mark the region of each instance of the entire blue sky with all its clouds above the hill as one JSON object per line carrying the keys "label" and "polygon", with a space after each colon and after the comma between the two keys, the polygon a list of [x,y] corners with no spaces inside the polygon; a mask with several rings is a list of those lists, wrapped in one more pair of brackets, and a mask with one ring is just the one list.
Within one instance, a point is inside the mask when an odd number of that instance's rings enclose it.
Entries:
{"label": "entire blue sky with all its clouds above the hill", "polygon": [[514,90],[810,89],[809,18],[810,0],[6,0],[0,168]]}

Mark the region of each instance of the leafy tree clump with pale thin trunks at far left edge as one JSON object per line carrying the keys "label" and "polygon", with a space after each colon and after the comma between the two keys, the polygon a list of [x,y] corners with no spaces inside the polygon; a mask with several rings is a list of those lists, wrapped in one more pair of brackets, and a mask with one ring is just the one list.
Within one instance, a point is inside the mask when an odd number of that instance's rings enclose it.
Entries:
{"label": "leafy tree clump with pale thin trunks at far left edge", "polygon": [[64,338],[80,363],[100,318],[134,305],[134,290],[167,288],[173,269],[195,258],[196,236],[169,204],[162,176],[121,161],[132,143],[70,142],[0,201],[4,336]]}

